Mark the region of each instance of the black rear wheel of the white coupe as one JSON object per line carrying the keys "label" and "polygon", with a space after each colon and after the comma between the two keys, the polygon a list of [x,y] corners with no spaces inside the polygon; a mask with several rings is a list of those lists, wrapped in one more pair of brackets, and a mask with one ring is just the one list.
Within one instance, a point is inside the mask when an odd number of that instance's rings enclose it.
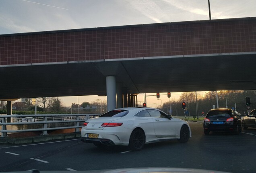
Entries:
{"label": "black rear wheel of the white coupe", "polygon": [[132,151],[139,151],[144,147],[145,144],[145,135],[141,129],[134,129],[130,136],[129,148]]}

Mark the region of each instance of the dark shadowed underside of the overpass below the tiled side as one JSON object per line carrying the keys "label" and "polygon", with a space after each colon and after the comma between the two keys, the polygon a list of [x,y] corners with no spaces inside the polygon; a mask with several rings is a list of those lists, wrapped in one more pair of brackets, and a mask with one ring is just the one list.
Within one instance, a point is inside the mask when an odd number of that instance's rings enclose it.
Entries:
{"label": "dark shadowed underside of the overpass below the tiled side", "polygon": [[131,93],[256,89],[256,52],[1,67],[0,100],[106,95],[106,76]]}

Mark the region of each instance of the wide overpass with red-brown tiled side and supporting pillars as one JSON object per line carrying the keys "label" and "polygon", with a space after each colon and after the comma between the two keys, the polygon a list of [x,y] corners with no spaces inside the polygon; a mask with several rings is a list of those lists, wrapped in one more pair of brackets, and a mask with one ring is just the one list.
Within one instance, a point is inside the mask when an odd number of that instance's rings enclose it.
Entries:
{"label": "wide overpass with red-brown tiled side and supporting pillars", "polygon": [[254,64],[256,17],[5,34],[0,100],[249,90]]}

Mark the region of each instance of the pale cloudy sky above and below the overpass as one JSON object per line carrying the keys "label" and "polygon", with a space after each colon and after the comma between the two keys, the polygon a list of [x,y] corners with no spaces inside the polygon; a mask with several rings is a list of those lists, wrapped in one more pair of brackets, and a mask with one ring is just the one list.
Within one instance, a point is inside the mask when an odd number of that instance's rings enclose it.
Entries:
{"label": "pale cloudy sky above and below the overpass", "polygon": [[[256,16],[255,0],[210,0],[210,4],[211,19]],[[0,0],[0,34],[192,20],[209,20],[208,0]],[[171,93],[171,99],[180,95]],[[69,106],[107,98],[59,99]],[[162,103],[169,101],[167,96],[160,99]],[[142,94],[138,101],[144,101]],[[147,97],[147,103],[156,107],[161,100]]]}

